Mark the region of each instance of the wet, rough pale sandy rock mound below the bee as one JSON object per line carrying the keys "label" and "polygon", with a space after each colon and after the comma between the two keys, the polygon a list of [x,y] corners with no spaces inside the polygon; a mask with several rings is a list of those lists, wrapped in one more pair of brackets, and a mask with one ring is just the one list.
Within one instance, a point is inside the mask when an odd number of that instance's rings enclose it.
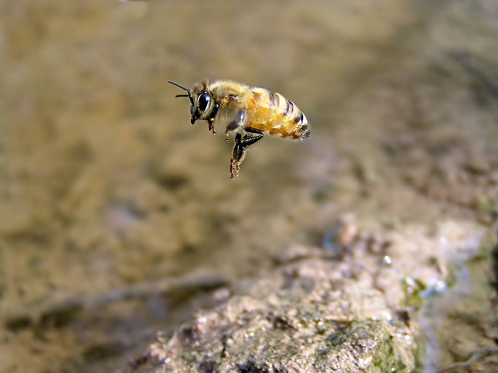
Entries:
{"label": "wet, rough pale sandy rock mound below the bee", "polygon": [[[482,234],[447,222],[432,239],[413,227],[375,238],[347,224],[357,232],[348,245],[335,242],[327,251],[288,248],[275,258],[279,265],[269,275],[239,283],[221,306],[199,312],[170,338],[158,338],[135,361],[136,368],[413,372],[416,360],[426,355],[424,330],[413,319],[420,296],[443,291],[452,275],[448,259],[475,255]],[[463,246],[465,253],[457,249]]]}

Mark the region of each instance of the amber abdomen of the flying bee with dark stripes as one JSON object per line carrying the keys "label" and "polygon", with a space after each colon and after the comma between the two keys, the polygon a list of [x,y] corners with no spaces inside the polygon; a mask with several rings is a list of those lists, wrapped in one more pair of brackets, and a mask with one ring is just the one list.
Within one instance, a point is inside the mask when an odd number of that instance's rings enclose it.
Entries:
{"label": "amber abdomen of the flying bee with dark stripes", "polygon": [[[310,127],[303,112],[280,93],[262,88],[252,89],[249,126],[270,135],[305,139],[310,137]],[[252,103],[252,105],[250,104]]]}

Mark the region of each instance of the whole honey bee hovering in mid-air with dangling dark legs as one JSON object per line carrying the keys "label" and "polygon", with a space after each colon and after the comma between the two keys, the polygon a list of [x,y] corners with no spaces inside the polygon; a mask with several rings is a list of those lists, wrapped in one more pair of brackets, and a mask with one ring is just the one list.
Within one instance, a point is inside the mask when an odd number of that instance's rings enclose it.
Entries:
{"label": "whole honey bee hovering in mid-air with dangling dark legs", "polygon": [[225,140],[230,138],[230,134],[235,135],[230,160],[231,179],[238,176],[248,148],[264,135],[294,140],[310,137],[306,115],[280,93],[230,80],[201,81],[192,90],[175,82],[168,83],[187,92],[176,97],[190,99],[190,123],[206,120],[213,133],[216,133],[215,125],[225,126]]}

